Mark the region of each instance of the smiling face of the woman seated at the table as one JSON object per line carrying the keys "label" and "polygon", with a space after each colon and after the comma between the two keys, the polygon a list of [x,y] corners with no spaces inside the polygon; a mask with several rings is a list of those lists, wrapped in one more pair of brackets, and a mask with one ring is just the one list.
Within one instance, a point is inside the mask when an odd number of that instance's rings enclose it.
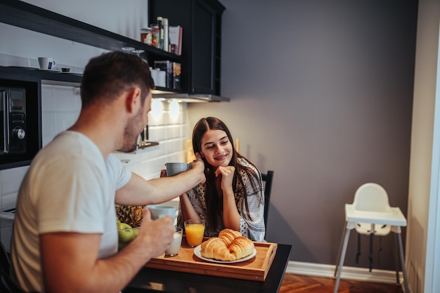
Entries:
{"label": "smiling face of the woman seated at the table", "polygon": [[233,155],[231,141],[223,130],[208,130],[202,136],[202,157],[208,164],[217,168],[226,167]]}

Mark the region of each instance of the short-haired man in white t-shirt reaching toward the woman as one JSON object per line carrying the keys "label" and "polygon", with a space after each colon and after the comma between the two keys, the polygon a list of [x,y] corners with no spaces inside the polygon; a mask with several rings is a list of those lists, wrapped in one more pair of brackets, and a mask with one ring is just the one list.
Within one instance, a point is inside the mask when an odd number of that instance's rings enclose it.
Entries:
{"label": "short-haired man in white t-shirt reaching toward the woman", "polygon": [[200,156],[189,171],[145,181],[111,154],[136,148],[152,89],[137,56],[89,61],[77,122],[34,157],[18,194],[11,261],[25,291],[119,292],[171,244],[172,217],[152,221],[145,209],[138,237],[117,252],[115,203],[166,202],[205,182]]}

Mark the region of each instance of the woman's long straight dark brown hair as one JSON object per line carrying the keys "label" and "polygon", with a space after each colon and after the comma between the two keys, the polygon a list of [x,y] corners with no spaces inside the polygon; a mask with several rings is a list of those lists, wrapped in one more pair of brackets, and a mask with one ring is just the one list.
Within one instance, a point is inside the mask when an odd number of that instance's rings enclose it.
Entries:
{"label": "woman's long straight dark brown hair", "polygon": [[[226,124],[224,124],[224,122],[222,122],[220,119],[218,119],[216,117],[202,118],[197,122],[197,124],[195,124],[194,130],[193,130],[193,150],[194,150],[194,153],[199,152],[200,154],[202,154],[202,137],[205,135],[205,133],[208,130],[225,131],[226,135],[228,136],[229,142],[231,143],[232,150],[233,150],[231,162],[229,162],[228,166],[235,167],[234,178],[232,181],[233,192],[234,192],[234,195],[237,195],[237,194],[243,195],[243,197],[241,197],[239,200],[244,200],[246,214],[247,214],[247,216],[249,216],[249,218],[251,218],[250,212],[249,212],[249,206],[247,204],[247,190],[245,188],[245,184],[242,181],[242,176],[240,176],[240,173],[242,171],[245,171],[245,173],[247,174],[247,176],[249,176],[249,178],[252,178],[254,176],[259,177],[259,174],[257,174],[251,168],[244,167],[241,164],[238,164],[238,158],[243,158],[243,159],[246,159],[246,158],[243,157],[242,155],[240,155],[235,150],[234,142],[233,142],[233,139],[231,136],[231,131],[229,131],[228,127],[226,126]],[[206,206],[207,206],[207,215],[209,215],[208,216],[209,219],[205,219],[205,221],[209,222],[209,227],[211,228],[211,230],[214,231],[214,230],[216,230],[218,220],[223,218],[223,200],[221,197],[219,197],[219,193],[217,192],[214,169],[213,169],[212,165],[210,165],[206,161],[205,158],[203,160],[205,161],[205,176],[207,179],[206,180],[205,199],[206,199]],[[247,162],[252,164],[248,159],[246,159],[246,160],[247,160]],[[254,164],[252,164],[252,166],[255,167]],[[255,167],[255,169],[257,169],[257,167]],[[250,183],[252,184],[252,187],[254,189],[257,188],[257,186],[255,186],[256,184],[255,184],[254,180],[250,180]],[[239,212],[241,212],[241,211],[239,211]]]}

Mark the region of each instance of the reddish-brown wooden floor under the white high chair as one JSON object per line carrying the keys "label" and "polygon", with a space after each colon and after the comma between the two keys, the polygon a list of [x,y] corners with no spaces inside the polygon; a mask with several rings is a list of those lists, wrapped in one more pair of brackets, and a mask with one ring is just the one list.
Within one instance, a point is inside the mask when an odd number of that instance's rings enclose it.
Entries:
{"label": "reddish-brown wooden floor under the white high chair", "polygon": [[[335,279],[286,273],[280,293],[332,293]],[[401,285],[341,280],[339,293],[403,293]]]}

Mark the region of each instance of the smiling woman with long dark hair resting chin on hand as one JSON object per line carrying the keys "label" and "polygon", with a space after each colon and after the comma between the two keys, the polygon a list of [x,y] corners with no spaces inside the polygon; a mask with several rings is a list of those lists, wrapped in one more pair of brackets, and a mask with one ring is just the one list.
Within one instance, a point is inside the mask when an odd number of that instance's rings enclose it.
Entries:
{"label": "smiling woman with long dark hair resting chin on hand", "polygon": [[261,173],[235,150],[226,124],[215,117],[200,119],[193,129],[193,151],[205,162],[207,182],[181,195],[179,226],[188,219],[202,219],[206,237],[230,228],[264,241]]}

